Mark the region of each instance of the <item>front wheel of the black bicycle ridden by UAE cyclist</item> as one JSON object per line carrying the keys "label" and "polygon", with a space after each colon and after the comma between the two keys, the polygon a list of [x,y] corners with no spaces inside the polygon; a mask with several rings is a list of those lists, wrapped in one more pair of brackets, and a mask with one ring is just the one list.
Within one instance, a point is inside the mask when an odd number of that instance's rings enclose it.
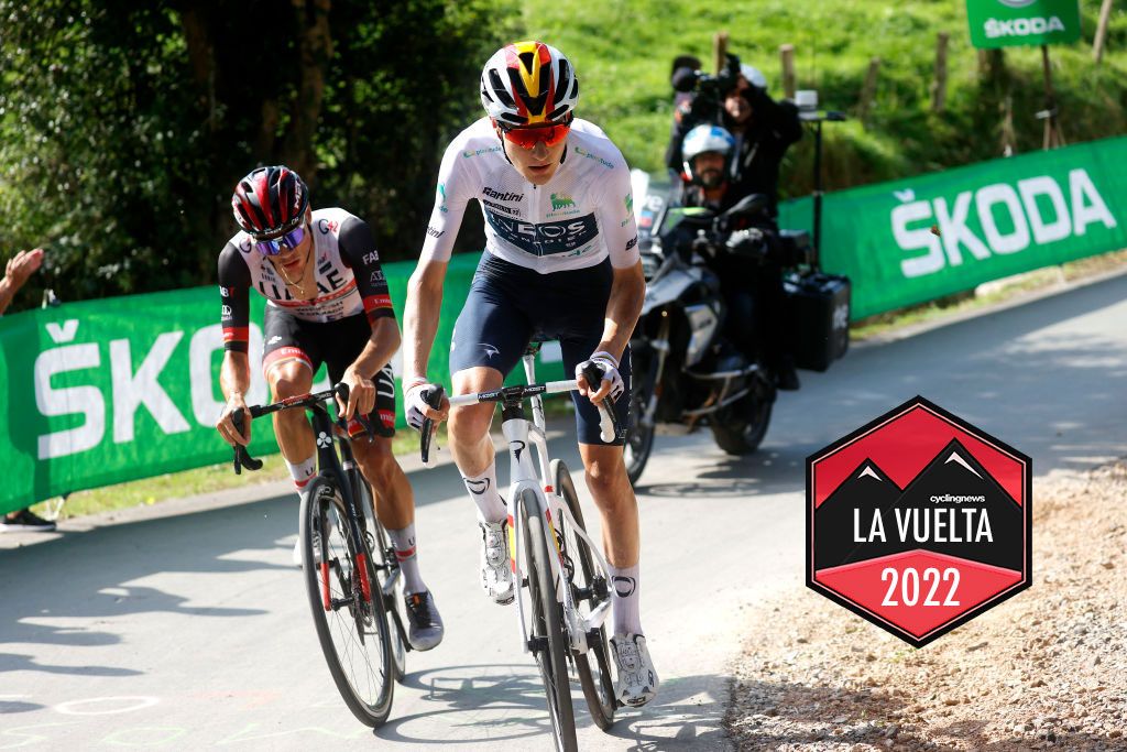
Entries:
{"label": "front wheel of the black bicycle ridden by UAE cyclist", "polygon": [[[336,483],[325,475],[313,478],[301,502],[300,534],[302,572],[317,638],[345,705],[357,720],[375,728],[391,714],[394,695],[388,619],[383,599],[365,601],[360,592],[355,577],[357,554],[364,552],[367,543],[353,540],[347,519]],[[316,541],[314,530],[325,533]],[[371,558],[367,560],[370,566]],[[330,602],[336,602],[329,609],[326,581]],[[357,675],[354,665],[360,656],[366,666],[363,676]]]}

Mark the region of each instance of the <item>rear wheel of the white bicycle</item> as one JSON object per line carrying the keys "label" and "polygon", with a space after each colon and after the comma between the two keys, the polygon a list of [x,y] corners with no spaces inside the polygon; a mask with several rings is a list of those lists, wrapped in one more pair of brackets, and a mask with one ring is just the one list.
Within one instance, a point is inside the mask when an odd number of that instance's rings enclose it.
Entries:
{"label": "rear wheel of the white bicycle", "polygon": [[[552,478],[556,484],[556,493],[564,499],[564,504],[571,512],[576,524],[586,530],[587,525],[583,521],[579,496],[575,492],[575,483],[567,465],[562,460],[552,460],[548,477]],[[565,520],[557,520],[556,532],[560,538],[559,543],[565,557],[565,565],[568,561],[571,564],[568,582],[576,609],[579,610],[580,614],[591,613],[601,603],[610,600],[607,583],[595,569],[594,556],[591,554],[587,541],[579,538],[570,524]],[[576,558],[578,566],[576,566]],[[601,584],[596,584],[596,577],[602,581]],[[586,607],[582,605],[580,591],[588,593],[587,598],[584,599],[587,602]],[[614,699],[614,682],[611,679],[605,625],[600,625],[598,629],[587,634],[587,652],[573,651],[571,661],[579,675],[579,684],[583,687],[583,696],[587,700],[587,709],[591,711],[592,720],[603,731],[607,731],[614,725],[614,710],[618,702]]]}

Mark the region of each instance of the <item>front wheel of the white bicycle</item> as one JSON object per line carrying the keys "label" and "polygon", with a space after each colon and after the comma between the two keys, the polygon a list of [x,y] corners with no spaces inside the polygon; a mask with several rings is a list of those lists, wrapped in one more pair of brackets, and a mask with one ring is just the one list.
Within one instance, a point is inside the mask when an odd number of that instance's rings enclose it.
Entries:
{"label": "front wheel of the white bicycle", "polygon": [[547,638],[548,647],[533,649],[540,678],[544,683],[548,714],[552,722],[552,737],[556,749],[576,752],[575,708],[571,706],[571,682],[567,670],[568,642],[564,631],[561,607],[556,599],[552,584],[551,561],[548,556],[548,530],[540,517],[540,503],[535,492],[525,489],[521,494],[521,516],[524,521],[524,572],[529,582],[529,600],[532,611],[531,637],[540,643]]}

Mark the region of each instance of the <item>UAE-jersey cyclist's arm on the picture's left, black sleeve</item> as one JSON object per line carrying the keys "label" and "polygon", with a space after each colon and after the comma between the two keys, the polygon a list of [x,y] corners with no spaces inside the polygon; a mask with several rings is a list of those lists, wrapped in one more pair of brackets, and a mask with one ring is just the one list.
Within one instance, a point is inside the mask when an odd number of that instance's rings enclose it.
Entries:
{"label": "UAE-jersey cyclist's arm on the picture's left, black sleeve", "polygon": [[250,333],[250,269],[232,244],[219,257],[219,293],[222,304],[223,364],[219,371],[219,386],[227,405],[215,423],[215,428],[227,443],[246,444],[250,437],[250,422],[245,433],[234,430],[231,413],[246,408],[246,393],[250,389],[250,359],[247,345]]}

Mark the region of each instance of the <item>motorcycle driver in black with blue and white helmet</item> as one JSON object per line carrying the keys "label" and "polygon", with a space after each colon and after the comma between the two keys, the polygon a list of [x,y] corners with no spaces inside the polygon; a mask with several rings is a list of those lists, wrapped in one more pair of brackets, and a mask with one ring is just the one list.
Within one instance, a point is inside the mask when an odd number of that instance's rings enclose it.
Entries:
{"label": "motorcycle driver in black with blue and white helmet", "polygon": [[[737,153],[736,139],[718,125],[689,131],[683,143],[682,168],[689,177],[684,204],[722,212],[743,198],[745,194],[738,193],[729,177]],[[784,310],[784,259],[773,209],[764,204],[757,215],[735,218],[735,227],[726,228],[730,235],[722,253],[706,258],[706,263],[719,277],[728,306],[725,335],[749,360],[762,354],[778,388],[791,391],[798,389],[799,381],[787,347],[791,327]]]}

